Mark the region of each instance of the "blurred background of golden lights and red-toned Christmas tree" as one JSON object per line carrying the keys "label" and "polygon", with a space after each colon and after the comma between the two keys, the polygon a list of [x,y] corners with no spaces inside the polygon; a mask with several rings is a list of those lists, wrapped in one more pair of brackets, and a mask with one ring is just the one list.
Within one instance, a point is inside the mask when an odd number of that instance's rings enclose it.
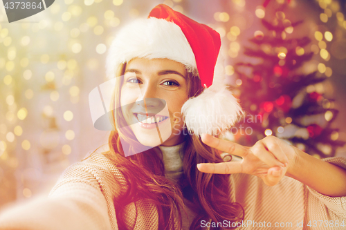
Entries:
{"label": "blurred background of golden lights and red-toned Christmas tree", "polygon": [[107,81],[119,28],[159,3],[220,33],[217,77],[263,118],[239,122],[254,133],[230,140],[277,135],[315,157],[346,156],[345,1],[61,0],[12,23],[0,3],[0,209],[48,193],[67,166],[107,148],[89,93]]}

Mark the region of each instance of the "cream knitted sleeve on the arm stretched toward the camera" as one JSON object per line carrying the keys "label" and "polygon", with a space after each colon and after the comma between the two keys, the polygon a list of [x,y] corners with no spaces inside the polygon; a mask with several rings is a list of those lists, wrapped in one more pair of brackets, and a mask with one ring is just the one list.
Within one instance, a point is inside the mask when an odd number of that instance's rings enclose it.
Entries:
{"label": "cream knitted sleeve on the arm stretched toward the camera", "polygon": [[107,167],[95,162],[73,164],[64,171],[48,198],[1,213],[0,229],[118,229],[109,192],[113,188],[107,185],[113,179]]}

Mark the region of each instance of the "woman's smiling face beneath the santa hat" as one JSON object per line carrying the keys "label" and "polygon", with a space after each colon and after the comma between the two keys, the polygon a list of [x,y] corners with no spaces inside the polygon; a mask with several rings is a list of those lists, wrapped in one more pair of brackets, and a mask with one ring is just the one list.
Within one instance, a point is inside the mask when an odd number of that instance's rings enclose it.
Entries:
{"label": "woman's smiling face beneath the santa hat", "polygon": [[140,144],[174,146],[183,141],[187,77],[185,66],[170,59],[136,58],[127,63],[120,106]]}

